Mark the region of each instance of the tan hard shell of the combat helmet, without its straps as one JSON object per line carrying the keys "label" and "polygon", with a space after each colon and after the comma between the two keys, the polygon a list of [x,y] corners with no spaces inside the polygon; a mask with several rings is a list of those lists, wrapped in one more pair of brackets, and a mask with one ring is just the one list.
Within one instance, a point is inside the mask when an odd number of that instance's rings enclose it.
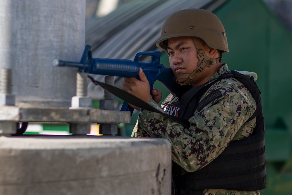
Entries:
{"label": "tan hard shell of the combat helmet, without its straps", "polygon": [[229,51],[221,21],[215,14],[204,9],[184,9],[168,16],[156,45],[167,51],[164,41],[175,37],[198,37],[212,49]]}

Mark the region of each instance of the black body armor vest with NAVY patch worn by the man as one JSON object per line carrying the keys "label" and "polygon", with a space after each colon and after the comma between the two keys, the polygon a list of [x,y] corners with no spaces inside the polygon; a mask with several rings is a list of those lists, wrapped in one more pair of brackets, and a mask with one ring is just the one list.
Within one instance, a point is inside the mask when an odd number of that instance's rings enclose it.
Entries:
{"label": "black body armor vest with NAVY patch worn by the man", "polygon": [[[246,121],[256,117],[253,134],[230,142],[216,159],[195,172],[187,172],[173,162],[173,186],[178,194],[202,194],[204,189],[254,191],[266,187],[264,117],[260,91],[252,77],[250,79],[241,73],[231,71],[212,80],[211,83],[188,90],[180,98],[172,97],[169,101],[168,97],[168,102],[178,106],[178,117],[188,120],[194,115],[195,110],[200,111],[208,103],[220,97],[221,93],[219,90],[211,92],[199,103],[201,96],[219,80],[230,77],[244,84],[256,101],[256,111]],[[172,106],[166,107],[167,109],[170,111]],[[183,125],[190,126],[190,124]]]}

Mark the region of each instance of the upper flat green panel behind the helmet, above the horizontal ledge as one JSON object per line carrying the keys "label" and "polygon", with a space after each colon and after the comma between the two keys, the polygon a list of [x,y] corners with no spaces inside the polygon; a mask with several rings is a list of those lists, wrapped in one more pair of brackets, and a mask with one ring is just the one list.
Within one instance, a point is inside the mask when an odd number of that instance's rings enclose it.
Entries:
{"label": "upper flat green panel behind the helmet, above the horizontal ledge", "polygon": [[214,13],[225,27],[230,50],[223,62],[232,70],[258,74],[265,125],[272,127],[277,118],[291,115],[291,35],[260,0],[230,0]]}

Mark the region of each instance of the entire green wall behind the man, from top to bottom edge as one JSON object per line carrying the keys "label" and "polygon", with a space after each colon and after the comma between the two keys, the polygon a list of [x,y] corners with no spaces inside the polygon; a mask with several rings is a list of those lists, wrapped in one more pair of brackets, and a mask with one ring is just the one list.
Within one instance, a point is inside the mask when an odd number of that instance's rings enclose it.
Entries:
{"label": "entire green wall behind the man, from top to bottom edge", "polygon": [[230,50],[223,62],[232,70],[258,74],[267,153],[267,188],[261,194],[292,194],[291,35],[260,0],[230,0],[214,13]]}

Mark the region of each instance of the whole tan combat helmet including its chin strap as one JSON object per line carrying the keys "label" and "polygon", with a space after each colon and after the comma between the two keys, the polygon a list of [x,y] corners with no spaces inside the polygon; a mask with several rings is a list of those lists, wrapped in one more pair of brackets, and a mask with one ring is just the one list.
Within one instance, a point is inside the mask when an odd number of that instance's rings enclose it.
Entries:
{"label": "whole tan combat helmet including its chin strap", "polygon": [[[224,27],[219,18],[212,12],[203,9],[185,9],[170,15],[164,22],[161,30],[161,38],[157,41],[157,47],[167,52],[167,40],[175,37],[193,37],[198,50],[198,68],[192,74],[182,74],[177,78],[181,85],[189,84],[192,79],[206,66],[222,62],[222,56],[211,59],[201,49],[198,38],[202,39],[210,48],[228,52],[227,38]],[[181,78],[188,78],[185,82],[179,82]]]}

